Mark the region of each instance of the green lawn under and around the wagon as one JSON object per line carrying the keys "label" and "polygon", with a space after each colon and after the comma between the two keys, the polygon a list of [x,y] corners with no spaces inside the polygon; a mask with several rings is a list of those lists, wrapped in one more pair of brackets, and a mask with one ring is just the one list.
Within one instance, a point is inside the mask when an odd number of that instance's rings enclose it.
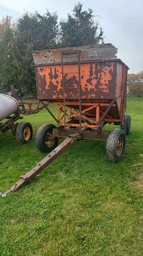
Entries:
{"label": "green lawn under and around the wagon", "polygon": [[[106,160],[106,142],[74,142],[31,183],[0,197],[1,256],[142,256],[142,109],[141,98],[127,99],[131,134],[118,164]],[[28,144],[0,134],[1,192],[46,156],[34,139],[53,119],[43,110],[24,121],[33,126]]]}

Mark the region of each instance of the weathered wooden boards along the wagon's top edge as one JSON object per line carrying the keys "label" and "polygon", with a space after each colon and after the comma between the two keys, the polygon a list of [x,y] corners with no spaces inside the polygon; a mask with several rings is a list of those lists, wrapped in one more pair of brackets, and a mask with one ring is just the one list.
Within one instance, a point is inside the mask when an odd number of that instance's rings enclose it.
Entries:
{"label": "weathered wooden boards along the wagon's top edge", "polygon": [[[97,61],[116,59],[117,48],[112,44],[94,44],[91,46],[79,46],[60,49],[49,49],[33,52],[35,65],[61,63],[61,52],[80,50],[80,61]],[[63,57],[64,63],[77,62],[77,54],[68,54]]]}

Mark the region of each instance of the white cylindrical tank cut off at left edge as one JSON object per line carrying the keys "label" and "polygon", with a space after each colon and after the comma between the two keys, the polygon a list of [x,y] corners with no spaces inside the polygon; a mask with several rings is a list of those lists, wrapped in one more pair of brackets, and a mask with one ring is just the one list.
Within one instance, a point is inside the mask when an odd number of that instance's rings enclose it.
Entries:
{"label": "white cylindrical tank cut off at left edge", "polygon": [[19,110],[19,102],[6,94],[0,93],[0,121]]}

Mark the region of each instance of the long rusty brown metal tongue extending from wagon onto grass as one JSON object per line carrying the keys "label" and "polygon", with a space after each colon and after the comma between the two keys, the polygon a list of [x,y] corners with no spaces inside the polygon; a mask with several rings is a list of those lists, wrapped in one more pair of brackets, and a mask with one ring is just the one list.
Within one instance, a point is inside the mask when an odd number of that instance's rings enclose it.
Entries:
{"label": "long rusty brown metal tongue extending from wagon onto grass", "polygon": [[37,166],[35,166],[31,171],[27,172],[27,174],[25,175],[21,175],[20,180],[12,185],[12,187],[8,189],[5,193],[3,193],[2,197],[5,197],[9,192],[14,192],[24,187],[26,184],[29,183],[29,181],[33,180],[39,172],[44,170],[51,162],[53,162],[55,158],[62,154],[62,152],[75,141],[77,136],[79,136],[79,133],[68,136],[62,143],[59,144],[58,147],[51,151],[49,155],[42,159],[41,162],[38,163]]}

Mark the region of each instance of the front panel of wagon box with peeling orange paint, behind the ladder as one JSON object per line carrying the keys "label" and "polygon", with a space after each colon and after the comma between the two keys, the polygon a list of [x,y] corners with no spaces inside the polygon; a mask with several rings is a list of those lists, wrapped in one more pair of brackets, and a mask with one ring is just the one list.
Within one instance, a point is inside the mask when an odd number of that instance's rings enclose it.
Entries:
{"label": "front panel of wagon box with peeling orange paint, behind the ladder", "polygon": [[[81,63],[81,100],[112,99],[116,97],[116,61]],[[64,65],[66,101],[79,101],[78,65]],[[63,101],[62,67],[36,67],[37,97],[39,100]]]}

